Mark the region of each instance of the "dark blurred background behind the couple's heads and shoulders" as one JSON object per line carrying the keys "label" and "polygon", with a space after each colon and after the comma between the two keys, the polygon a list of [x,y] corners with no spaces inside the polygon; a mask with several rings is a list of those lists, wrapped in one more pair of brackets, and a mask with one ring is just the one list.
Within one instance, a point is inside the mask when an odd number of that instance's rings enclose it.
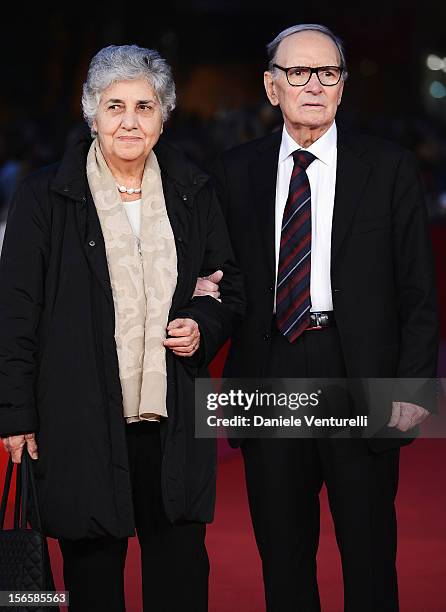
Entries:
{"label": "dark blurred background behind the couple's heads and shoulders", "polygon": [[[280,124],[263,91],[265,44],[290,25],[313,22],[333,29],[346,46],[350,76],[338,123],[414,150],[431,216],[441,220],[446,216],[446,72],[430,70],[426,60],[446,56],[446,3],[315,4],[17,5],[2,19],[0,37],[3,216],[17,180],[57,160],[84,129],[81,87],[100,48],[136,43],[166,57],[178,104],[165,133],[206,168],[218,152]],[[446,60],[444,65],[446,70]]]}

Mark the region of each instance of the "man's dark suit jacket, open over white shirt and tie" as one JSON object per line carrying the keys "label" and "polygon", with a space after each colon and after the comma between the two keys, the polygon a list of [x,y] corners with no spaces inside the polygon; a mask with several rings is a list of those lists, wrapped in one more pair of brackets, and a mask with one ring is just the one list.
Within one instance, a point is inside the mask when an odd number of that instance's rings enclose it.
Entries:
{"label": "man's dark suit jacket, open over white shirt and tie", "polygon": [[[266,372],[281,134],[227,151],[213,168],[247,294],[247,316],[232,340],[227,377]],[[393,143],[339,130],[331,286],[349,377],[435,377],[434,265],[414,156]]]}

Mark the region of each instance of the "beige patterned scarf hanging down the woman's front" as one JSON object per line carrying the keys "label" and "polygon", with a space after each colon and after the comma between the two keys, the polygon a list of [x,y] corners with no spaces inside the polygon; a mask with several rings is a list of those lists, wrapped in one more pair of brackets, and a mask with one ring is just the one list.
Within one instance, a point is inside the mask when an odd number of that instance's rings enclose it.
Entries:
{"label": "beige patterned scarf hanging down the woman's front", "polygon": [[127,422],[167,416],[163,340],[177,283],[177,254],[158,161],[152,151],[142,179],[141,253],[96,139],[88,152],[87,178],[113,291],[124,416]]}

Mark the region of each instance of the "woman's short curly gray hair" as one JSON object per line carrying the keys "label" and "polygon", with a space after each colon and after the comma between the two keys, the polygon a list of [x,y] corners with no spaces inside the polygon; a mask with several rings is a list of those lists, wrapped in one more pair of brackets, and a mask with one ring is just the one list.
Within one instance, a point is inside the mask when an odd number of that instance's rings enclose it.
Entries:
{"label": "woman's short curly gray hair", "polygon": [[92,135],[102,92],[112,83],[140,78],[152,85],[166,121],[175,108],[175,83],[169,64],[158,51],[137,45],[110,45],[96,53],[82,90],[82,110]]}

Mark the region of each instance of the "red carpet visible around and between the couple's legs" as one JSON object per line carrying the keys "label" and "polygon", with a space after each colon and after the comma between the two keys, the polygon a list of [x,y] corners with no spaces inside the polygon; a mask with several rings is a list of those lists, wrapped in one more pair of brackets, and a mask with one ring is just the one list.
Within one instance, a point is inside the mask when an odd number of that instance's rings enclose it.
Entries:
{"label": "red carpet visible around and between the couple's legs", "polygon": [[[262,612],[260,563],[249,520],[238,452],[223,449],[216,520],[208,530],[210,612]],[[446,440],[418,440],[403,449],[398,493],[398,569],[401,612],[446,611]],[[53,569],[62,586],[60,554],[51,541]],[[140,612],[138,544],[129,546],[127,612]],[[322,497],[319,584],[323,612],[342,612],[342,578],[336,542]],[[156,611],[154,611],[156,612]]]}

